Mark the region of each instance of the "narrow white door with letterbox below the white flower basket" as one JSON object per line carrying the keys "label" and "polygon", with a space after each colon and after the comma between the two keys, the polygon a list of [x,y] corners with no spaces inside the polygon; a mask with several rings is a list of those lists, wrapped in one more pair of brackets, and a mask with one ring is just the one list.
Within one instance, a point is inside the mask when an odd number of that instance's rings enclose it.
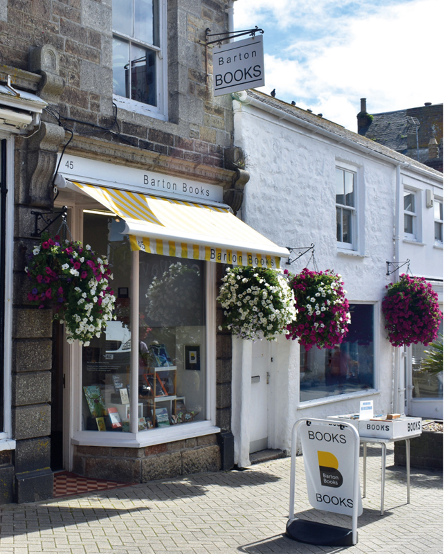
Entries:
{"label": "narrow white door with letterbox below the white flower basket", "polygon": [[269,375],[271,370],[271,343],[256,341],[252,347],[251,406],[249,420],[249,452],[268,447]]}

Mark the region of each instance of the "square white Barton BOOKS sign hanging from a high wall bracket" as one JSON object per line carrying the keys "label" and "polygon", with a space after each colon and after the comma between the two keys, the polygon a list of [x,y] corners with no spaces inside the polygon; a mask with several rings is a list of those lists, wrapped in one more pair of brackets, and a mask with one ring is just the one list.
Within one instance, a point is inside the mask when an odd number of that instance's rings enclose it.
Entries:
{"label": "square white Barton BOOKS sign hanging from a high wall bracket", "polygon": [[250,37],[213,48],[213,96],[264,85],[263,37]]}

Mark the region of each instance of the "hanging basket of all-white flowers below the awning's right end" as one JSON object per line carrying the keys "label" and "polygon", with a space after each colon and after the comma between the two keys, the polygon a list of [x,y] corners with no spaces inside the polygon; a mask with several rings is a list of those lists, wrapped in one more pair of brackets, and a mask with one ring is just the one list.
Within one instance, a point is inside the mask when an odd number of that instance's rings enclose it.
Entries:
{"label": "hanging basket of all-white flowers below the awning's right end", "polygon": [[224,325],[240,339],[274,340],[287,334],[296,318],[295,298],[287,280],[275,269],[226,269],[217,300],[224,308]]}

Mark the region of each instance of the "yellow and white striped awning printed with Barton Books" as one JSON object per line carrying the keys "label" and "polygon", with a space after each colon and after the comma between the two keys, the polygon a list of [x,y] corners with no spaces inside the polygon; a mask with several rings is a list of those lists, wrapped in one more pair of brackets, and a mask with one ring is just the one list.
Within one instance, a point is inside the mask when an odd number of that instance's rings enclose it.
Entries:
{"label": "yellow and white striped awning printed with Barton Books", "polygon": [[[74,182],[74,181],[73,181]],[[239,220],[224,204],[209,206],[74,182],[125,220],[132,250],[252,267],[280,267],[280,248]]]}

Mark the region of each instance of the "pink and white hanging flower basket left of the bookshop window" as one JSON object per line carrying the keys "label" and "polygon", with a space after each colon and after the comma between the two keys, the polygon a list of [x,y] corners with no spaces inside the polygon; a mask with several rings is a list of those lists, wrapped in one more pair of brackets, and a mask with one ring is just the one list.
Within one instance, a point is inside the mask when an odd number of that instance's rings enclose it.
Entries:
{"label": "pink and white hanging flower basket left of the bookshop window", "polygon": [[113,278],[107,258],[100,258],[89,244],[54,240],[42,233],[25,268],[32,282],[28,300],[39,305],[53,305],[54,319],[65,323],[67,341],[75,339],[85,346],[100,337],[113,316],[116,298],[109,286]]}

